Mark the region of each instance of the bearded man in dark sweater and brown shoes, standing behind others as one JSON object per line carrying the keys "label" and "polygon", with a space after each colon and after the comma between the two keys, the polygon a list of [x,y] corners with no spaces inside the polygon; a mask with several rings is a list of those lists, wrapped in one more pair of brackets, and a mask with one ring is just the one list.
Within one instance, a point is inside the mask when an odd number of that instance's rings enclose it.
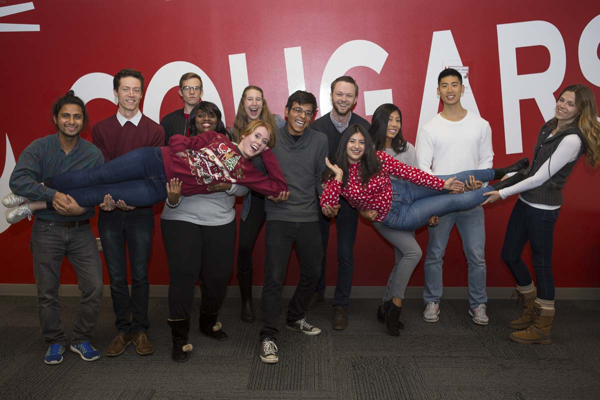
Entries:
{"label": "bearded man in dark sweater and brown shoes, standing behind others", "polygon": [[[331,112],[323,115],[311,125],[313,129],[327,135],[329,142],[329,160],[335,159],[340,144],[341,133],[347,127],[354,124],[362,125],[366,130],[370,124],[361,116],[352,112],[358,97],[358,85],[350,76],[340,76],[331,83]],[[335,212],[337,211],[337,214]],[[325,266],[326,252],[329,239],[329,227],[331,217],[335,216],[335,227],[337,231],[337,257],[338,273],[335,285],[333,328],[337,330],[348,327],[347,308],[350,301],[350,290],[352,289],[352,275],[354,271],[353,248],[356,239],[356,228],[358,227],[358,210],[349,206],[343,197],[340,197],[340,208],[337,210],[323,209],[320,213],[321,239],[323,242],[323,267],[321,277],[317,284],[308,309],[313,309],[325,300]]]}

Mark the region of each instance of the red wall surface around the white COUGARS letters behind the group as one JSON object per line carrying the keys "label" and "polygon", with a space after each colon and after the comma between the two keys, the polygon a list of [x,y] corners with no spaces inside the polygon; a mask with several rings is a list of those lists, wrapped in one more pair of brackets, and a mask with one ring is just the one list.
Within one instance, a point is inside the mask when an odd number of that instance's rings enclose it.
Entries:
{"label": "red wall surface around the white COUGARS letters behind the group", "polygon": [[[23,2],[25,0],[8,0],[0,6]],[[355,77],[361,93],[392,89],[394,103],[403,111],[404,136],[414,143],[432,37],[436,31],[449,30],[463,64],[470,67],[470,85],[479,113],[491,124],[496,153],[494,165],[502,166],[532,154],[544,116],[533,98],[520,100],[524,151],[506,154],[497,25],[531,21],[551,23],[560,32],[565,48],[565,74],[557,88],[584,83],[600,100],[600,88],[589,81],[599,85],[598,80],[590,78],[589,74],[589,80],[586,79],[578,51],[581,34],[600,14],[600,5],[596,1],[565,4],[554,0],[528,2],[527,7],[522,7],[520,1],[502,2],[502,6],[481,4],[476,0],[409,4],[380,0],[273,1],[272,4],[193,0],[34,1],[34,10],[0,18],[0,24],[40,25],[38,32],[2,32],[7,28],[0,25],[0,133],[8,136],[14,155],[18,157],[32,140],[53,133],[50,107],[80,77],[98,72],[113,75],[121,68],[132,67],[142,71],[148,87],[156,82],[152,79],[161,67],[175,61],[195,64],[210,77],[223,103],[227,125],[230,125],[238,94],[234,99],[229,55],[238,53],[245,53],[248,82],[262,86],[272,112],[283,115],[289,94],[284,49],[301,47],[305,88],[319,101],[323,70],[332,53],[349,41],[366,40],[388,53],[385,64],[379,73],[367,67],[350,68],[347,73]],[[600,29],[593,29],[596,37],[600,37]],[[521,47],[517,49],[516,57],[520,75],[542,73],[551,64],[560,64],[542,46]],[[596,53],[586,57],[598,62],[597,44]],[[347,63],[352,65],[352,59],[347,59]],[[437,74],[441,69],[442,65],[439,65],[434,72]],[[179,75],[169,79],[176,86]],[[205,100],[212,98],[205,93]],[[160,98],[154,101],[160,102]],[[171,89],[164,96],[160,116],[181,107],[180,104],[176,89]],[[329,108],[328,104],[326,106]],[[148,103],[145,107],[149,107]],[[116,107],[110,101],[96,99],[89,101],[88,110],[90,122],[94,124],[115,113]],[[365,116],[362,94],[355,112]],[[366,118],[370,119],[370,116]],[[91,139],[89,127],[83,137]],[[4,154],[5,140],[0,139],[0,166],[4,165]],[[565,206],[557,222],[554,245],[554,276],[559,287],[600,286],[600,262],[596,255],[600,243],[600,206],[596,200],[600,197],[598,178],[598,171],[580,162],[565,190]],[[7,191],[7,187],[1,189]],[[486,208],[489,286],[514,284],[499,257],[514,201],[510,199]],[[158,229],[160,210],[161,206],[155,206],[157,228],[149,266],[151,284],[168,284],[166,256]],[[0,283],[34,282],[30,233],[31,222],[27,221],[0,233]],[[331,237],[335,238],[334,232]],[[425,248],[427,231],[419,230],[417,238]],[[335,240],[330,242],[327,283],[334,285]],[[261,233],[254,252],[257,270],[254,284],[262,283],[264,245]],[[528,251],[524,257],[529,260]],[[354,284],[385,285],[392,263],[391,247],[370,225],[361,221],[355,245]],[[411,285],[422,285],[421,266],[422,262],[415,270]],[[466,261],[455,232],[446,251],[444,275],[446,286],[466,285]],[[287,284],[296,282],[297,277],[298,264],[292,255]],[[105,278],[108,282],[108,277]],[[76,282],[72,269],[64,269],[62,282]]]}

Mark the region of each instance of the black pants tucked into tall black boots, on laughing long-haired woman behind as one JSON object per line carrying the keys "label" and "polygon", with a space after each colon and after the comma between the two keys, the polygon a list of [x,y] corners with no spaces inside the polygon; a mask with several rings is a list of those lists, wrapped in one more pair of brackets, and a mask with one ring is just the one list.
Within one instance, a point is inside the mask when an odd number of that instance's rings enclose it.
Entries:
{"label": "black pants tucked into tall black boots, on laughing long-haired woman behind", "polygon": [[245,221],[239,221],[238,238],[238,275],[252,276],[252,251],[256,237],[259,236],[260,227],[265,222],[265,197],[250,194],[250,211]]}

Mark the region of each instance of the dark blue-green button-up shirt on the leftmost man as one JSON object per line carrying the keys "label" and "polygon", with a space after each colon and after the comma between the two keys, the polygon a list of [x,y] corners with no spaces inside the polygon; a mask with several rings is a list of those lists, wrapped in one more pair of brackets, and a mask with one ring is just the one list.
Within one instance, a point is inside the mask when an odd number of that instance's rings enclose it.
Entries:
{"label": "dark blue-green button-up shirt on the leftmost man", "polygon": [[[56,190],[41,184],[44,179],[70,170],[80,170],[104,164],[102,152],[92,143],[79,137],[77,145],[65,154],[58,141],[58,132],[34,140],[19,156],[17,165],[10,176],[9,186],[13,193],[29,200],[52,201]],[[50,221],[79,221],[94,216],[94,208],[86,209],[85,214],[63,216],[55,210],[40,210],[35,216]]]}

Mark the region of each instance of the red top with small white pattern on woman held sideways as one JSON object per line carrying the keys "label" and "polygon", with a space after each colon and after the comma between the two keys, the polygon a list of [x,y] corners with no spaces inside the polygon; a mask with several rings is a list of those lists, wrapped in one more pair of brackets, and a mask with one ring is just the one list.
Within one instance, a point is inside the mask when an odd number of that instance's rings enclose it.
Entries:
{"label": "red top with small white pattern on woman held sideways", "polygon": [[338,182],[335,178],[327,181],[327,188],[321,196],[321,207],[326,205],[335,206],[339,203],[341,194],[348,201],[348,204],[356,209],[376,210],[377,217],[375,221],[381,222],[388,215],[389,207],[392,204],[392,180],[389,175],[431,189],[442,190],[444,186],[443,179],[407,166],[384,151],[377,151],[376,155],[382,163],[379,175],[373,176],[368,185],[363,186],[360,175],[360,161],[350,165],[348,168],[348,182],[345,187],[342,188],[341,182]]}

